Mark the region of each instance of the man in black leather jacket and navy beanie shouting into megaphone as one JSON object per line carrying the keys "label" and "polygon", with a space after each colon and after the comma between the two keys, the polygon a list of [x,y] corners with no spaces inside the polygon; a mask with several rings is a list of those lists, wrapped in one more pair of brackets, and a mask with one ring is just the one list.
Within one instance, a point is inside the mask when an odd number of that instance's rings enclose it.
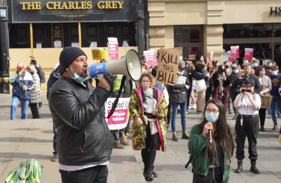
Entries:
{"label": "man in black leather jacket and navy beanie shouting into megaphone", "polygon": [[101,78],[97,88],[92,87],[87,55],[80,48],[65,47],[59,64],[62,76],[50,89],[49,109],[57,133],[61,180],[107,182],[114,138],[102,116],[110,84]]}

